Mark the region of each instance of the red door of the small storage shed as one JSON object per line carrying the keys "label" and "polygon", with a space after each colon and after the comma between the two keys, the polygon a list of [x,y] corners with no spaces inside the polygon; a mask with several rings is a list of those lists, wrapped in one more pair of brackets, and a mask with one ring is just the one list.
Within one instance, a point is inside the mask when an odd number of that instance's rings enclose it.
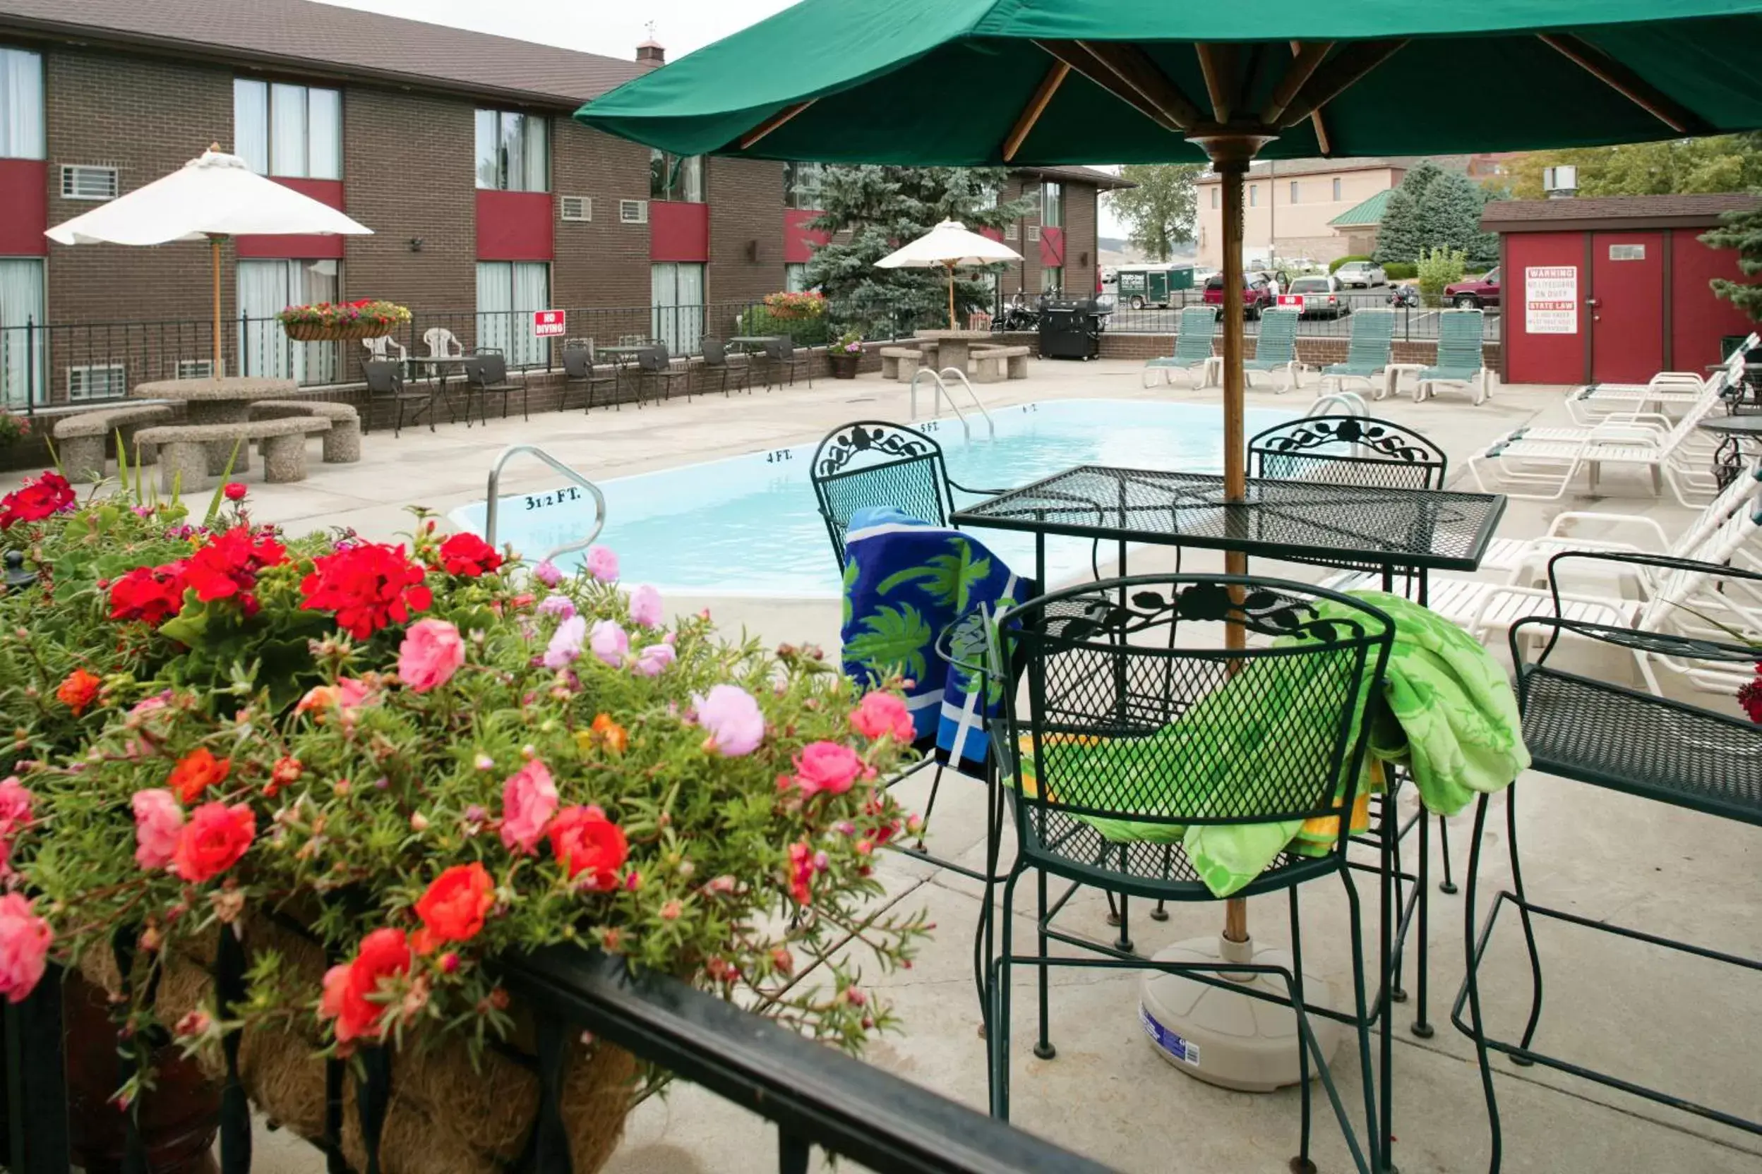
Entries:
{"label": "red door of the small storage shed", "polygon": [[1591,378],[1644,384],[1663,370],[1663,234],[1591,236]]}

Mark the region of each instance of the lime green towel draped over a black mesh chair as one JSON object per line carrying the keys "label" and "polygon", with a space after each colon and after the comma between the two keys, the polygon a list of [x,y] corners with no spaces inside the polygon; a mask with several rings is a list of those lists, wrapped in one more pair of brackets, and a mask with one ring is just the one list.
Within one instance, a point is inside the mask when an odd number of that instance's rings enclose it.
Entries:
{"label": "lime green towel draped over a black mesh chair", "polygon": [[[1499,790],[1529,764],[1521,736],[1517,699],[1485,648],[1462,628],[1417,604],[1381,591],[1355,593],[1383,609],[1396,639],[1381,690],[1371,708],[1371,759],[1410,767],[1425,806],[1455,813],[1473,792]],[[1360,621],[1362,613],[1316,600],[1320,618]],[[1302,637],[1281,637],[1276,646]],[[1366,665],[1366,672],[1374,662]],[[1329,657],[1255,660],[1239,676],[1207,693],[1175,722],[1145,737],[1043,736],[1047,771],[1024,739],[1024,790],[1036,794],[1047,776],[1057,803],[1119,811],[1122,818],[1078,815],[1115,843],[1181,843],[1205,885],[1230,896],[1279,855],[1327,852],[1339,834],[1334,818],[1262,824],[1173,824],[1140,817],[1186,818],[1242,815],[1242,762],[1276,764],[1281,757],[1325,760],[1339,722],[1339,672]],[[1332,688],[1329,688],[1332,685]],[[1364,699],[1353,722],[1364,718]],[[1336,781],[1341,799],[1346,780]],[[1378,790],[1381,769],[1364,764],[1351,811],[1364,827],[1366,801]],[[1223,801],[1230,792],[1230,803]],[[1284,806],[1309,803],[1307,796]],[[1276,804],[1274,804],[1276,806]]]}

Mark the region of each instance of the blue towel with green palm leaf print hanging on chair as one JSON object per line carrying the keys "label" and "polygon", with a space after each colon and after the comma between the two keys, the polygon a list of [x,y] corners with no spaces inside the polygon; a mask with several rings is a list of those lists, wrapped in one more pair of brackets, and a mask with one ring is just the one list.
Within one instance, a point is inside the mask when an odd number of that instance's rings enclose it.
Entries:
{"label": "blue towel with green palm leaf print hanging on chair", "polygon": [[[851,514],[844,542],[844,671],[865,685],[893,672],[909,679],[920,750],[983,767],[985,722],[997,715],[1003,686],[960,665],[985,662],[981,613],[1033,598],[1034,581],[1017,577],[978,539],[893,507]],[[944,660],[937,639],[948,628]]]}

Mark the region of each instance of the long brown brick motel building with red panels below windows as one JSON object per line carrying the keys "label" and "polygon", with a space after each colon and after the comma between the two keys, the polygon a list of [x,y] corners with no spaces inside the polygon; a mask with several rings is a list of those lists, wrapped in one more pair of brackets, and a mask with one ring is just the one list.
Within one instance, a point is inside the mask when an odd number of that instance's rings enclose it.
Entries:
{"label": "long brown brick motel building with red panels below windows", "polygon": [[[42,231],[210,143],[375,232],[229,241],[233,370],[351,378],[359,347],[289,343],[273,322],[322,299],[391,299],[416,338],[440,326],[513,363],[546,356],[525,329],[541,308],[601,341],[691,350],[729,333],[742,306],[800,283],[814,167],[661,157],[569,118],[661,60],[654,44],[615,60],[307,0],[0,0],[0,403],[206,373],[204,245],[60,246]],[[1041,215],[1006,234],[1025,260],[1003,290],[1094,289],[1096,199],[1115,183],[1015,172],[1003,195],[1038,188]]]}

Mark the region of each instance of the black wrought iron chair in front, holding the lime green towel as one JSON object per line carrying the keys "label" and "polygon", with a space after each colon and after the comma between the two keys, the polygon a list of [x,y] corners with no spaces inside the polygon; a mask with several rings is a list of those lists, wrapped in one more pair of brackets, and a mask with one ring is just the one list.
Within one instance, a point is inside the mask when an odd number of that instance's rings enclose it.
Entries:
{"label": "black wrought iron chair in front, holding the lime green towel", "polygon": [[[1332,1012],[1332,1017],[1357,1031],[1373,1139],[1369,1169],[1385,1169],[1378,1162],[1364,935],[1346,864],[1350,820],[1337,817],[1350,811],[1355,799],[1366,753],[1366,729],[1357,715],[1371,683],[1381,676],[1392,639],[1388,616],[1367,604],[1323,588],[1244,576],[1087,583],[999,616],[994,667],[1020,664],[1024,686],[1004,693],[1001,753],[1008,755],[1017,855],[1004,880],[1001,943],[988,982],[992,1116],[1010,1116],[1015,966],[1038,970],[1034,1054],[1045,1060],[1055,1056],[1048,1016],[1052,966],[1158,970],[1292,1007],[1302,1074],[1300,1149],[1292,1169],[1313,1169],[1311,1060],[1318,1063],[1359,1169],[1367,1169],[1309,1024],[1311,1016],[1322,1012],[1306,1005],[1302,989],[1299,887],[1337,877],[1351,924],[1353,1003],[1348,1014]],[[1216,959],[1147,959],[1054,924],[1078,885],[1159,901],[1219,899],[1175,829],[1191,834],[1196,827],[1330,817],[1337,831],[1307,852],[1277,850],[1232,894],[1288,894],[1293,965],[1288,970],[1267,963],[1230,968],[1267,975],[1276,989],[1283,987],[1283,996],[1223,979]],[[1015,919],[1008,914],[1017,882],[1029,871],[1038,882],[1038,949],[1017,954]],[[1048,901],[1048,878],[1070,882],[1055,901]],[[1099,958],[1054,956],[1052,942]]]}

